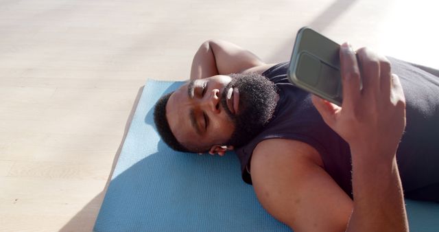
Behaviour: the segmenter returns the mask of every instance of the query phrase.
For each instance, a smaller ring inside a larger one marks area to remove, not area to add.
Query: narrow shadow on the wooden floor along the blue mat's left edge
[[[69,222],[67,222],[67,224],[65,224],[64,227],[60,229],[60,231],[92,231],[93,230],[93,226],[97,218],[97,213],[99,213],[99,209],[104,200],[104,196],[108,189],[108,185],[110,185],[112,173],[115,171],[115,167],[117,164],[117,160],[119,159],[119,156],[121,154],[123,143],[125,142],[126,135],[128,134],[128,130],[130,129],[132,117],[134,116],[134,112],[136,111],[137,104],[139,104],[139,100],[144,88],[145,86],[141,86],[139,91],[137,91],[136,100],[134,100],[134,104],[132,104],[130,115],[128,116],[128,119],[125,124],[123,137],[119,145],[119,148],[117,149],[117,152],[115,154],[115,158],[112,161],[111,172],[110,175],[108,176],[104,190],[101,193],[97,194],[97,196],[95,196],[90,202],[88,202],[87,205],[81,209],[81,211],[76,213],[76,215],[73,218],[71,218],[71,220],[69,220]]]

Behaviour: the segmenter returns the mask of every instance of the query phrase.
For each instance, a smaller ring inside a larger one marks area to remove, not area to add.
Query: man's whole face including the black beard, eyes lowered
[[[241,146],[259,132],[276,106],[274,84],[261,76],[213,76],[180,86],[166,105],[176,139],[194,152]]]

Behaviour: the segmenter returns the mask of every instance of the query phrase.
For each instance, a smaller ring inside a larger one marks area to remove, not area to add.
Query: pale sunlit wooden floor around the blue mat
[[[91,231],[139,89],[204,40],[280,62],[310,25],[439,68],[435,2],[0,0],[0,231]]]

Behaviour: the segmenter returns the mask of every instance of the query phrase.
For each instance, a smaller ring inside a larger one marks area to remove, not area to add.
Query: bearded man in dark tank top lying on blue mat
[[[439,201],[439,71],[356,54],[340,48],[338,107],[290,84],[288,62],[206,41],[191,80],[158,100],[158,132],[174,150],[235,150],[244,181],[294,231],[408,231],[403,197]]]

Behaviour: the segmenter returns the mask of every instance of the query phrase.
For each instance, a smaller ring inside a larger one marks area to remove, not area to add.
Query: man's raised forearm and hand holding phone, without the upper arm
[[[359,49],[356,56],[346,43],[340,48],[340,63],[342,107],[315,96],[313,104],[351,147],[354,202],[346,231],[408,231],[396,165],[405,128],[399,78],[386,58],[368,49]]]

